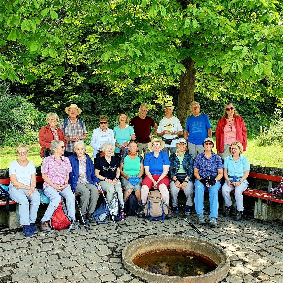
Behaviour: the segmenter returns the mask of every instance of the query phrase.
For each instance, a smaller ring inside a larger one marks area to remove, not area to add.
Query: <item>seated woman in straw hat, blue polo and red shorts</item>
[[[141,212],[138,214],[138,217],[145,217],[144,208],[147,201],[147,196],[149,190],[159,189],[159,192],[162,195],[162,199],[165,201],[168,207],[167,218],[171,218],[171,209],[169,206],[169,178],[167,176],[170,161],[168,154],[162,152],[165,142],[159,139],[153,139],[148,143],[148,149],[150,153],[145,155],[145,178],[142,182],[141,198],[142,198],[142,207]]]

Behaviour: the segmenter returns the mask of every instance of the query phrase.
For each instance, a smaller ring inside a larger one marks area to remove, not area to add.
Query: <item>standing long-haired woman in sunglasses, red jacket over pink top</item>
[[[223,117],[218,121],[216,131],[216,150],[222,161],[230,155],[229,146],[233,142],[240,142],[246,151],[247,131],[244,119],[239,116],[232,103],[226,103]]]

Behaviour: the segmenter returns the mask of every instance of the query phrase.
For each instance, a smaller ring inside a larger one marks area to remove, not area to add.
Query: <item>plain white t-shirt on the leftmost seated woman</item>
[[[30,186],[31,174],[36,174],[35,165],[29,161],[26,166],[21,166],[14,160],[9,164],[9,177],[13,174],[16,174],[18,182]],[[10,185],[12,185],[11,182]]]

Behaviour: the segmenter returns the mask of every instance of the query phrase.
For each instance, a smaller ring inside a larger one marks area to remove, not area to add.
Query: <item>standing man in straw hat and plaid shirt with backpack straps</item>
[[[60,129],[64,132],[67,146],[64,156],[69,157],[73,154],[73,145],[79,140],[86,140],[88,138],[85,123],[77,116],[82,113],[82,109],[76,104],[71,104],[65,108],[68,118],[65,118],[60,123]]]

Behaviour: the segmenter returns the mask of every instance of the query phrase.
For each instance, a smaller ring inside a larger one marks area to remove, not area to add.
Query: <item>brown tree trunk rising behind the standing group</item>
[[[186,73],[180,75],[180,88],[178,98],[178,118],[185,130],[186,119],[191,115],[190,103],[194,101],[194,88],[196,79],[196,69],[194,68],[195,60],[187,57],[181,62],[185,68]]]

